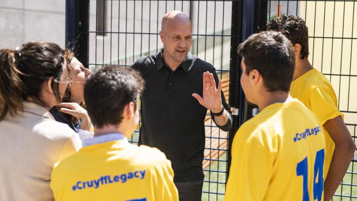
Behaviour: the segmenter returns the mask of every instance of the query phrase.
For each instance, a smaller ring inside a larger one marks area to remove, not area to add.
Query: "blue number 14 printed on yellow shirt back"
[[[322,191],[323,191],[323,161],[325,159],[325,149],[321,149],[316,152],[316,159],[314,165],[314,173],[313,173],[313,200],[321,201]],[[300,163],[297,163],[296,166],[296,174],[297,176],[302,176],[303,178],[303,196],[302,201],[310,201],[309,192],[307,189],[307,157],[304,158]],[[318,181],[316,183],[316,177]]]

